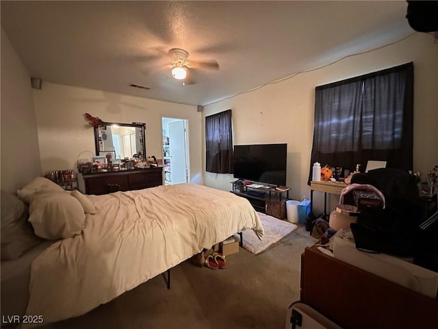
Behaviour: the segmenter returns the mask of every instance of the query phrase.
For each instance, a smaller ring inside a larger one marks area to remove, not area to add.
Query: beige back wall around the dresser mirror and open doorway
[[[165,116],[188,119],[191,182],[203,183],[201,113],[196,106],[47,82],[41,90],[34,90],[34,102],[44,173],[76,169],[78,157],[91,159],[94,132],[84,117],[86,112],[107,122],[146,123],[146,156],[157,158],[162,158],[161,117]]]

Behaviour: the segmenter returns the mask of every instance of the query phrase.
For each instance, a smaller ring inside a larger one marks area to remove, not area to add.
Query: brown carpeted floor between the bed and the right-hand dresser
[[[86,315],[45,328],[285,328],[289,304],[299,299],[300,255],[315,243],[304,226],[257,256],[240,247],[227,269],[189,261]]]

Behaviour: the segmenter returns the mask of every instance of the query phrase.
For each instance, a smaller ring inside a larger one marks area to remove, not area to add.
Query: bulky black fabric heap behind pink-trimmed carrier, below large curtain
[[[385,195],[385,209],[363,210],[350,228],[356,247],[411,256],[417,227],[429,215],[419,197],[416,178],[400,169],[374,169],[352,176],[352,184],[370,184]]]

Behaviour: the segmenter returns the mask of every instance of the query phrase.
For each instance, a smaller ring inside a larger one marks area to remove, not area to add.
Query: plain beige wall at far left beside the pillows
[[[30,75],[1,28],[1,188],[11,193],[41,175]]]

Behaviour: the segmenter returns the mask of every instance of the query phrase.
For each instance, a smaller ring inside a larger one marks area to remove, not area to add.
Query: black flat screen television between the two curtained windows
[[[287,144],[234,145],[234,178],[286,185]]]

